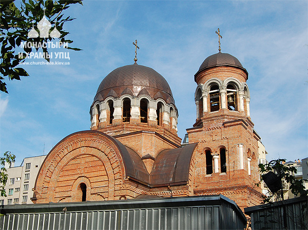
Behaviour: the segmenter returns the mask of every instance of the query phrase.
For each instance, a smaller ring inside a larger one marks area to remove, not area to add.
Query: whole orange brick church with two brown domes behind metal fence
[[[240,61],[219,51],[202,62],[195,74],[197,119],[181,147],[167,81],[134,60],[102,80],[90,107],[90,130],[65,137],[47,155],[32,201],[222,194],[242,209],[259,204],[260,137]]]

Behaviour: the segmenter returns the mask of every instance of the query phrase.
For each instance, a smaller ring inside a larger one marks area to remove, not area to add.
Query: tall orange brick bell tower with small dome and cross
[[[194,195],[223,194],[251,206],[262,194],[255,186],[260,137],[249,112],[248,72],[220,50],[195,74],[196,123],[187,129],[189,143],[198,143]]]

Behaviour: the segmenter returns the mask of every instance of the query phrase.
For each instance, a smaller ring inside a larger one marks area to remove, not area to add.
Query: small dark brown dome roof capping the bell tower
[[[240,68],[247,73],[247,70],[243,68],[241,62],[236,57],[228,53],[221,53],[219,51],[219,53],[210,55],[209,57],[205,58],[198,72],[195,74],[195,76],[207,68],[216,67],[216,66],[233,66],[233,67]]]

